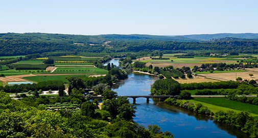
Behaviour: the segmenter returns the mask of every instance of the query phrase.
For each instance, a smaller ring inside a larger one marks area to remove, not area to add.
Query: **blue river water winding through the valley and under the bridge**
[[[118,60],[112,60],[117,65]],[[130,74],[128,79],[119,82],[112,90],[118,95],[149,95],[151,85],[156,77]],[[132,102],[132,99],[129,99]],[[157,106],[157,103],[159,106]],[[176,138],[184,137],[248,137],[239,130],[224,124],[214,123],[212,119],[195,114],[193,112],[168,105],[163,102],[150,99],[146,103],[145,98],[136,99],[136,113],[134,121],[147,127],[156,124],[162,131],[170,131]]]

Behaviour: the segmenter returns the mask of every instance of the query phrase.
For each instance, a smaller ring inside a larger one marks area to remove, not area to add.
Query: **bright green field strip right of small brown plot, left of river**
[[[53,74],[107,74],[108,71],[97,67],[58,67]]]

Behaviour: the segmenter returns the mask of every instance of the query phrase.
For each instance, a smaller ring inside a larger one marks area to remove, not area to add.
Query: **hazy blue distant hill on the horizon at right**
[[[240,34],[232,34],[232,33],[220,33],[220,34],[194,34],[194,35],[182,35],[183,37],[207,41],[210,39],[219,39],[219,38],[242,38],[242,39],[258,39],[258,34],[255,33],[240,33]]]

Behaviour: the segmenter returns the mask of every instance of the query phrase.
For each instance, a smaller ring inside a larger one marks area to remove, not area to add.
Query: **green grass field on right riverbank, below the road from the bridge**
[[[195,98],[193,101],[199,101],[207,104],[216,105],[218,107],[213,107],[211,110],[224,110],[225,108],[230,108],[234,110],[247,111],[258,116],[258,106],[248,103],[242,103],[237,101],[231,101],[225,98]]]

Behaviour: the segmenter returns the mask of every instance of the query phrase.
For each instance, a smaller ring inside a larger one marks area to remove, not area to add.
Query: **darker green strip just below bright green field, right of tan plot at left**
[[[27,79],[33,82],[53,81],[53,80],[68,82],[68,80],[66,79],[68,77],[83,77],[83,76],[88,77],[89,75],[33,76],[33,77],[24,77],[24,79]]]

